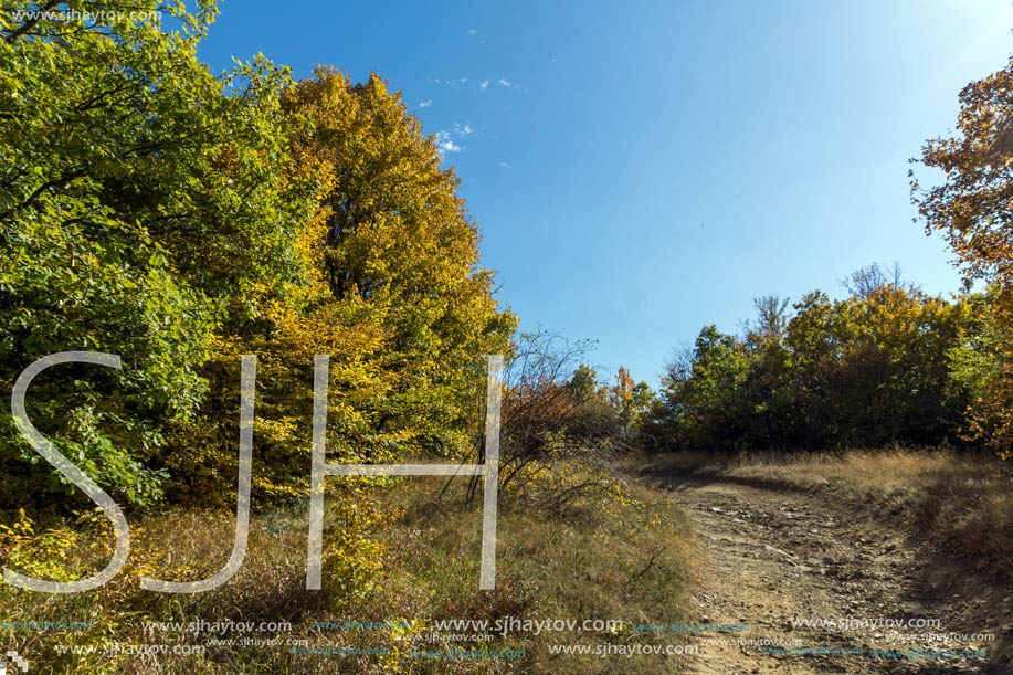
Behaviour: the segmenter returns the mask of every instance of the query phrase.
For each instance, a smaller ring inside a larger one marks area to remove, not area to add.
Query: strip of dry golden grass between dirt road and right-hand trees
[[[899,526],[917,528],[1002,581],[1013,579],[1013,483],[991,455],[900,447],[674,453],[640,457],[630,465],[651,473],[834,493]]]

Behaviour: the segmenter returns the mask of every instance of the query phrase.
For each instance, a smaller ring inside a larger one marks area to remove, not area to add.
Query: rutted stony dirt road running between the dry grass
[[[777,646],[704,644],[689,673],[1013,673],[1002,656],[1013,636],[1013,591],[983,590],[946,551],[925,537],[874,521],[863,509],[821,494],[729,483],[665,478],[689,514],[704,558],[694,593],[699,623],[748,623],[750,631],[717,637],[796,640],[811,650],[861,653],[771,653]],[[866,511],[867,513],[867,511]],[[855,625],[842,626],[852,618]],[[798,620],[836,625],[800,625]],[[874,627],[873,620],[939,620],[938,626]],[[796,620],[794,625],[792,620]],[[862,623],[866,621],[866,623]],[[925,642],[926,633],[986,633],[995,641]],[[898,633],[919,639],[898,640]],[[984,650],[986,656],[872,655],[870,650]]]

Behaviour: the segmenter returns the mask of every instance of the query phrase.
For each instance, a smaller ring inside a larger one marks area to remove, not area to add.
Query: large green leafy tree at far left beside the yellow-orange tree
[[[257,59],[215,77],[198,61],[214,14],[205,0],[0,3],[0,384],[56,351],[120,355],[122,371],[46,371],[29,403],[135,503],[159,495],[166,425],[202,400],[214,335],[256,316],[258,287],[293,281],[313,205],[284,73]],[[17,434],[0,435],[0,464],[13,502],[67,487]]]

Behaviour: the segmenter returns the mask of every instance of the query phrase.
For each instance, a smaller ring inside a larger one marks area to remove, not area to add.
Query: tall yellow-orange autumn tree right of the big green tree
[[[352,84],[319,68],[282,105],[294,179],[317,188],[293,241],[296,281],[244,298],[254,314],[219,336],[205,368],[215,393],[181,428],[180,445],[193,450],[170,458],[170,473],[191,488],[234,488],[241,354],[258,356],[261,494],[308,489],[316,354],[330,356],[329,462],[464,456],[479,429],[484,356],[506,351],[516,318],[478,264],[460,180],[377,75]]]

